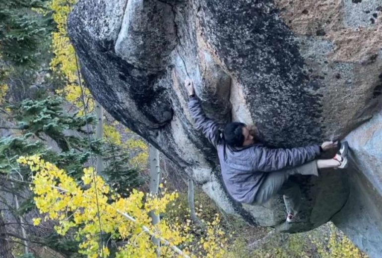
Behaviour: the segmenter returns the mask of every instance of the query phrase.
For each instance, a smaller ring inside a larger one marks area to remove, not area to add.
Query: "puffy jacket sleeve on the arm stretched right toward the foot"
[[[320,154],[320,148],[318,145],[291,149],[255,146],[254,152],[254,171],[271,172],[312,161]]]

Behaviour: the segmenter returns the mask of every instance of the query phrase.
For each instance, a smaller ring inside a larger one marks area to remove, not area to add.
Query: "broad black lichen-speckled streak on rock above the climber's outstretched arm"
[[[247,102],[253,103],[250,111],[264,140],[278,146],[318,141],[319,125],[311,118],[317,117],[319,98],[303,89],[310,86],[316,90],[320,84],[304,75],[304,60],[292,32],[278,19],[277,10],[265,6],[266,1],[202,2],[204,14],[199,19],[203,30],[208,31],[203,35],[228,71],[240,71],[238,80],[245,87]],[[234,11],[237,9],[246,12]],[[269,119],[275,117],[280,119]],[[289,141],[292,138],[298,140]]]

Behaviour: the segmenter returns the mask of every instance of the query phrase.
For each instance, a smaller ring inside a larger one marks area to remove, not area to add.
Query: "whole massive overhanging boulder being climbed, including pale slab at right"
[[[94,97],[226,212],[284,232],[332,219],[376,255],[381,122],[370,119],[381,110],[381,11],[382,0],[79,0],[68,31]],[[215,149],[193,129],[187,77],[210,118],[255,124],[273,146],[340,139],[370,120],[349,135],[349,173],[291,179],[302,186],[301,223],[284,223],[281,196],[261,206],[236,203]]]

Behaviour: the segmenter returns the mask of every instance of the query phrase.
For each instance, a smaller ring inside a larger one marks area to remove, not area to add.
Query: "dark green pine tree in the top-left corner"
[[[33,97],[48,73],[54,21],[47,3],[0,1],[0,97],[8,102]]]

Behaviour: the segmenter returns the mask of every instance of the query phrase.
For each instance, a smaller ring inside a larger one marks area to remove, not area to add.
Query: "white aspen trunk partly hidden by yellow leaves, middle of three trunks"
[[[160,182],[160,168],[159,168],[159,151],[150,144],[149,148],[149,161],[150,161],[150,194],[155,198],[158,194],[159,182]],[[159,223],[159,214],[155,214],[155,211],[150,212],[152,224]],[[152,238],[154,245],[158,246],[156,253],[157,257],[160,257],[160,241],[157,238]]]

